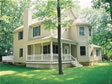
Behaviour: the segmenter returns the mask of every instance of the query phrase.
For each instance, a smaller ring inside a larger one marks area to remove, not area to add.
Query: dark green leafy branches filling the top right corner
[[[93,0],[94,8],[104,8],[107,12],[110,13],[111,24],[112,24],[112,0]]]

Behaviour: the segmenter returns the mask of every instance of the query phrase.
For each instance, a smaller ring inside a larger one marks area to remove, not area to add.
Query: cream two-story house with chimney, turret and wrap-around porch
[[[101,47],[90,45],[92,29],[88,22],[76,19],[68,29],[62,28],[61,53],[63,67],[71,67],[80,62],[91,65],[101,61]],[[78,62],[77,62],[78,61]],[[57,30],[46,30],[38,19],[32,19],[32,11],[24,12],[24,25],[14,30],[14,64],[25,64],[34,68],[57,68]]]

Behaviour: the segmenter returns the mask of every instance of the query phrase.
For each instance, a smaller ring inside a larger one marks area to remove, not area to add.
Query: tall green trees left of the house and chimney
[[[13,30],[22,25],[23,12],[31,6],[30,0],[2,0],[0,17],[0,56],[9,55],[13,48]],[[5,52],[7,51],[7,52]]]

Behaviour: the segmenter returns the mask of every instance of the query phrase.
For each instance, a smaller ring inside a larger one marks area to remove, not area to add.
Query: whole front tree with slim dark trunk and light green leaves
[[[78,7],[76,5],[75,7]],[[72,10],[74,7],[72,0],[48,0],[41,1],[38,0],[35,6],[34,17],[38,17],[40,20],[43,20],[45,29],[57,29],[58,28],[58,60],[59,60],[59,74],[63,74],[62,63],[61,63],[61,27],[68,28],[73,22],[72,19],[66,19],[68,14],[66,11]],[[57,7],[56,7],[57,6]],[[63,12],[61,12],[61,10]],[[58,16],[58,17],[57,17]],[[58,26],[57,26],[58,25]]]

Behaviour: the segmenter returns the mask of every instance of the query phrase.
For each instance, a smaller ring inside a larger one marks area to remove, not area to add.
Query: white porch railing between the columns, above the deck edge
[[[71,60],[70,54],[63,54],[62,61]],[[27,55],[26,61],[58,61],[58,54],[33,54]]]

